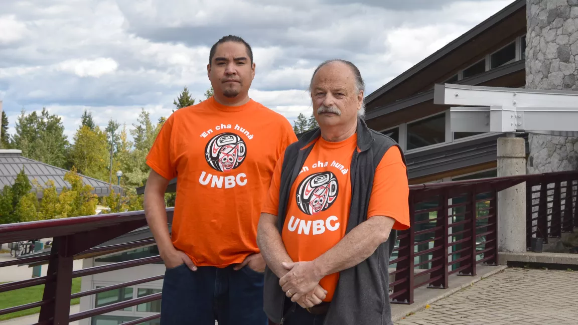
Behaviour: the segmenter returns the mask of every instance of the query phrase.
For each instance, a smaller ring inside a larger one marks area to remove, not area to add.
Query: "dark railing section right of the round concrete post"
[[[578,228],[578,172],[538,175],[526,182],[526,239],[560,238]]]

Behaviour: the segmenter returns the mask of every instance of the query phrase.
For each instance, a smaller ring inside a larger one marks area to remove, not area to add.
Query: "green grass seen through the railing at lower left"
[[[72,293],[80,292],[80,278],[72,279]],[[0,293],[0,309],[10,308],[30,304],[42,300],[42,293],[44,292],[44,285],[28,287],[8,292]],[[80,298],[73,299],[71,305],[80,304]],[[8,315],[0,316],[0,320],[7,320],[21,316],[33,315],[40,312],[40,307],[27,309],[25,311],[9,313]]]

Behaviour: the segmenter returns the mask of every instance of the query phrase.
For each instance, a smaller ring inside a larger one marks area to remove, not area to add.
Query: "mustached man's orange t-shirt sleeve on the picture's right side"
[[[387,150],[376,168],[367,216],[395,219],[393,228],[409,228],[409,184],[406,166],[397,146]]]

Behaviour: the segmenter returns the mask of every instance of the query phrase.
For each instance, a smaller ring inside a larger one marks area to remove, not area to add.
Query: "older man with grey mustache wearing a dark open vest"
[[[409,186],[397,143],[362,119],[364,91],[354,64],[323,62],[310,84],[319,128],[277,162],[257,232],[272,322],[392,324],[391,230],[409,228]]]

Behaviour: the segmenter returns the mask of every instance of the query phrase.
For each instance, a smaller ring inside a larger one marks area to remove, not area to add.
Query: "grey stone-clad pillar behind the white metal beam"
[[[526,88],[578,90],[578,0],[527,0]],[[528,173],[578,169],[578,139],[529,134]]]

